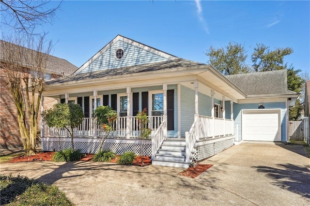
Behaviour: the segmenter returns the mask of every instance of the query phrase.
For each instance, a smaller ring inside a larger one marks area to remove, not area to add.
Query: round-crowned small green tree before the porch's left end
[[[73,130],[77,128],[84,118],[82,107],[74,103],[57,103],[42,113],[48,127],[65,128],[71,136],[71,145],[74,150]]]

